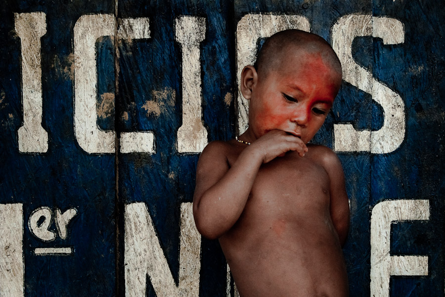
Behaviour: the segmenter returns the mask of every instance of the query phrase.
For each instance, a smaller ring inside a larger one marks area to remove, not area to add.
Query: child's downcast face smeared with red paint
[[[258,73],[249,103],[249,129],[256,139],[278,129],[308,143],[326,119],[340,84],[341,74],[319,53],[290,52],[279,67]]]

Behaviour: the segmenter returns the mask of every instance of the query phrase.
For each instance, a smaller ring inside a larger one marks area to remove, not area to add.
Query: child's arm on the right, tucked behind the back
[[[326,148],[324,167],[330,180],[330,213],[342,247],[349,230],[349,199],[346,194],[345,176],[339,158],[331,149]]]

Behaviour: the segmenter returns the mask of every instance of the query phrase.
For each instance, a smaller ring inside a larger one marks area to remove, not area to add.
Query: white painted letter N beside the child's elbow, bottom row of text
[[[145,203],[125,206],[125,296],[146,294],[146,276],[158,297],[198,297],[201,236],[192,204],[181,204],[179,285],[176,286]]]

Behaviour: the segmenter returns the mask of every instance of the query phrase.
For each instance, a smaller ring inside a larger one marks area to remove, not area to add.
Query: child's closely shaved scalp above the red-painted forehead
[[[296,29],[280,31],[267,38],[257,54],[254,67],[259,74],[267,75],[270,70],[280,68],[286,54],[298,54],[299,51],[320,54],[323,61],[341,77],[340,60],[329,43],[318,35]]]

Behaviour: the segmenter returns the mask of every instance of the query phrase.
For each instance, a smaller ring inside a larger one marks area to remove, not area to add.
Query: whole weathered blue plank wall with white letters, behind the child
[[[199,152],[246,128],[238,77],[299,28],[343,84],[350,296],[444,296],[445,12],[405,0],[0,5],[0,296],[237,296],[191,214]]]

